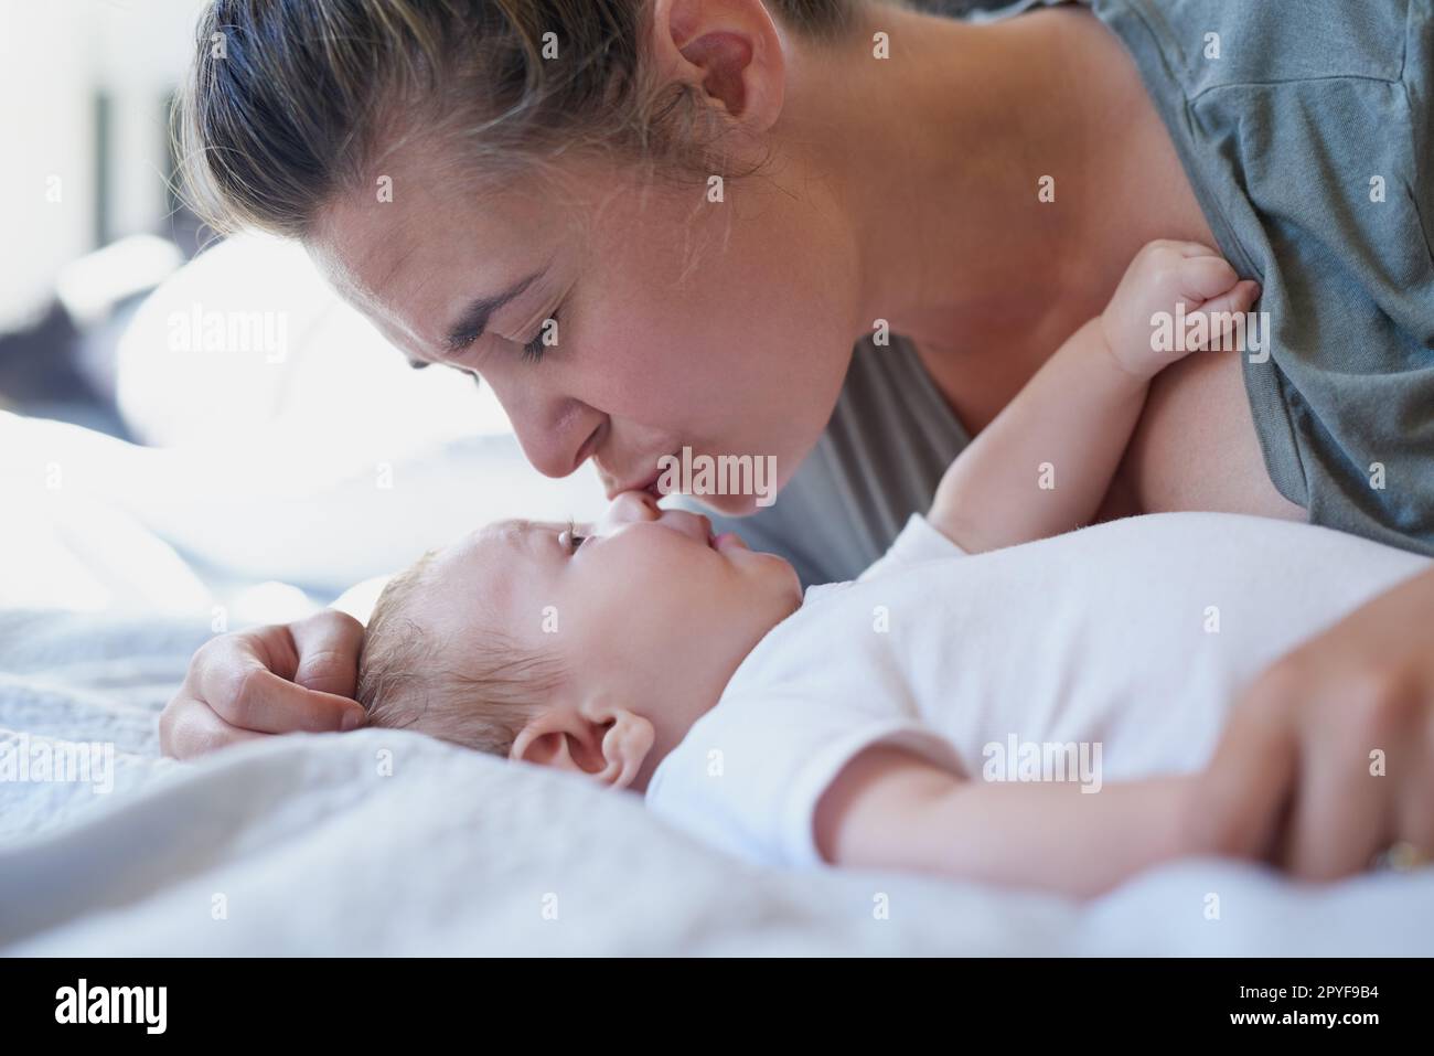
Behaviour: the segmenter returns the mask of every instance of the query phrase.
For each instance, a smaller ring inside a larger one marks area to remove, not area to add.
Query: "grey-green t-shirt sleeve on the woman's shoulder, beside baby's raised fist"
[[[1091,7],[1260,281],[1242,362],[1271,481],[1314,524],[1434,555],[1428,4]]]

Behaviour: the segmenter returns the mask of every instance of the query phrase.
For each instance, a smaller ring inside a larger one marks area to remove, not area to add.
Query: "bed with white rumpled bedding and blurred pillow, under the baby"
[[[315,277],[275,264],[288,251],[254,251],[235,240],[206,254],[130,334],[126,416],[162,446],[0,413],[0,951],[1434,950],[1434,869],[1305,887],[1186,861],[1078,904],[916,875],[757,868],[691,842],[635,796],[414,733],[161,758],[158,713],[218,630],[294,618],[492,517],[584,517],[601,502],[589,475],[541,482],[511,433],[475,429],[470,386],[452,389],[460,379],[414,376],[371,334],[336,334],[353,320]],[[231,290],[270,303],[245,275],[295,297],[293,353],[261,374],[174,362],[174,306],[221,304]],[[343,363],[315,360],[326,354]],[[201,373],[184,376],[185,399],[161,399],[191,367]],[[248,403],[234,399],[241,386]],[[298,449],[310,455],[295,461]],[[391,491],[376,489],[376,463]],[[96,762],[87,781],[39,776],[85,758]],[[23,781],[22,760],[36,763]]]

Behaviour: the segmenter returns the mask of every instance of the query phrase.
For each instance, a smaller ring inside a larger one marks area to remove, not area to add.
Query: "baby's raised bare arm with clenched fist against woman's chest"
[[[1157,350],[1152,317],[1173,317],[1184,303],[1187,320],[1199,313],[1219,320],[1217,313],[1246,311],[1258,296],[1255,283],[1240,281],[1203,245],[1144,247],[1106,311],[1077,330],[952,462],[931,524],[967,552],[1088,524],[1140,419],[1150,379],[1189,352],[1183,341]]]

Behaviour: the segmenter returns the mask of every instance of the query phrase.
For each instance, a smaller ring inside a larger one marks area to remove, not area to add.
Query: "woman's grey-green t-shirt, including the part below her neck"
[[[1315,524],[1434,555],[1434,0],[1083,3],[1134,57],[1220,251],[1263,287],[1269,357],[1245,357],[1245,387],[1271,481]],[[913,346],[863,339],[812,456],[724,527],[804,583],[853,578],[965,442]]]

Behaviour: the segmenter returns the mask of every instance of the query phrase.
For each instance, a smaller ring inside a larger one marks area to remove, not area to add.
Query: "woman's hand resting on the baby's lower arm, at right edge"
[[[1434,854],[1434,571],[1355,610],[1255,683],[1196,818],[1216,852],[1335,880]]]

